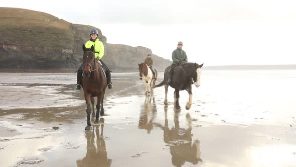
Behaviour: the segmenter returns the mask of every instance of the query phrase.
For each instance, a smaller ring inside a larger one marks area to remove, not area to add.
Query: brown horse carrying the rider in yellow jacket
[[[87,107],[87,126],[85,127],[85,130],[90,130],[92,129],[90,122],[91,111],[92,116],[96,117],[95,123],[100,122],[99,114],[101,114],[101,116],[104,115],[103,100],[107,87],[107,80],[101,65],[97,62],[94,56],[94,47],[91,46],[91,48],[85,48],[85,46],[82,45],[82,49],[84,51],[82,87]],[[94,113],[94,97],[97,97],[96,114]]]

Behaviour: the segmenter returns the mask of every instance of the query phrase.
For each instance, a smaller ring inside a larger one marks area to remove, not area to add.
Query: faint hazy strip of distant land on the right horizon
[[[224,66],[204,66],[209,70],[268,70],[268,69],[296,69],[296,64],[290,65],[224,65]]]

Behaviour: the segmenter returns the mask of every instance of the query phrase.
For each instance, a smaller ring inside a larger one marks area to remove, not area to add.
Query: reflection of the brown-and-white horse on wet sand
[[[151,100],[153,104],[151,104]],[[139,117],[139,129],[146,129],[147,133],[150,134],[153,129],[153,120],[156,118],[157,109],[155,99],[150,95],[145,96],[144,104],[141,106],[141,113]]]

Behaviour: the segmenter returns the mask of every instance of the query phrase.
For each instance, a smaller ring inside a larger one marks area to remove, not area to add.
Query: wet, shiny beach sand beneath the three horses
[[[165,106],[164,87],[145,96],[138,73],[112,78],[105,116],[85,131],[75,74],[0,73],[0,166],[296,164],[293,70],[205,70],[190,110],[187,92],[175,110],[173,89]]]

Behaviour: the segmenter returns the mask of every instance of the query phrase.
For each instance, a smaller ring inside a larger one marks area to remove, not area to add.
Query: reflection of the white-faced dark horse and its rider
[[[165,108],[165,126],[157,123],[155,123],[155,125],[164,130],[164,141],[165,143],[170,144],[172,164],[174,166],[182,166],[185,162],[192,162],[193,164],[202,162],[202,159],[200,158],[200,141],[194,140],[192,142],[192,122],[190,115],[186,115],[188,128],[180,128],[179,113],[175,111],[175,127],[170,129],[167,119],[167,110],[168,109]]]

